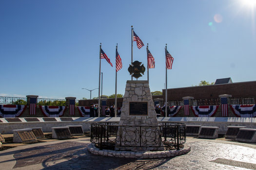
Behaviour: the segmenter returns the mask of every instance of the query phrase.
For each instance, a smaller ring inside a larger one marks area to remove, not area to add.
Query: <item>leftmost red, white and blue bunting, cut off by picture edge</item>
[[[19,117],[27,108],[27,105],[3,105],[0,104],[0,117],[15,118]]]

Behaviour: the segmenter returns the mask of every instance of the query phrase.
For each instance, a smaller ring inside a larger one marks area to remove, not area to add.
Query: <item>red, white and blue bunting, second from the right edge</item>
[[[191,106],[196,117],[213,117],[218,110],[218,105],[213,106]]]

